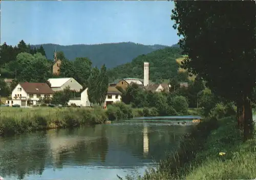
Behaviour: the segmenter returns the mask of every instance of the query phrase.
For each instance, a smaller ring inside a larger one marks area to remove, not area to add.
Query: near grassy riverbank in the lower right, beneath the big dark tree
[[[198,124],[156,169],[127,179],[254,179],[256,139],[243,143],[236,124],[235,117]]]

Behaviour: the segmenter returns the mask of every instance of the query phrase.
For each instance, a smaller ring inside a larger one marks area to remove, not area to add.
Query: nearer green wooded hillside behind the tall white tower
[[[143,78],[143,62],[150,63],[150,80],[161,82],[164,79],[177,78],[179,81],[187,81],[187,72],[178,72],[179,64],[176,59],[181,57],[180,48],[164,48],[152,53],[140,55],[132,62],[118,65],[109,70],[110,80],[133,77]]]

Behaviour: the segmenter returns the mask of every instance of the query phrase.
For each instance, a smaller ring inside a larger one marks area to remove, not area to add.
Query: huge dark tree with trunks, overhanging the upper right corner
[[[184,68],[205,79],[216,95],[237,103],[245,140],[252,136],[255,13],[255,2],[176,1],[172,15],[174,28],[183,36]]]

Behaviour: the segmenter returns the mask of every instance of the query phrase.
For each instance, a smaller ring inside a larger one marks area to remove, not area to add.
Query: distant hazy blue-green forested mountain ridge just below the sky
[[[100,67],[105,64],[107,68],[131,62],[141,54],[151,53],[158,49],[166,48],[160,44],[147,46],[134,42],[103,43],[103,44],[75,44],[61,46],[59,44],[31,45],[32,48],[44,47],[46,57],[51,59],[53,52],[62,51],[66,58],[73,61],[76,57],[87,57],[91,59],[92,65]]]

